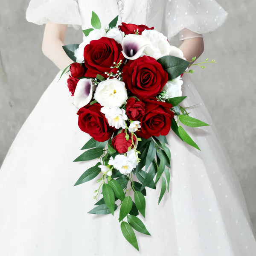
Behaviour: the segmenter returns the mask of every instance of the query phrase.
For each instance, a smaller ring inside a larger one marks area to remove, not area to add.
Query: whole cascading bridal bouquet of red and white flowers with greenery
[[[161,180],[158,203],[169,191],[171,153],[165,136],[172,129],[200,150],[180,123],[207,124],[180,106],[186,98],[182,75],[193,72],[186,71],[190,63],[183,52],[153,27],[117,27],[117,20],[102,28],[93,12],[93,29],[83,31],[84,41],[63,47],[75,62],[62,75],[69,68],[67,84],[79,109],[78,125],[92,137],[75,161],[99,158],[75,185],[99,176],[95,199],[101,192],[103,197],[89,213],[114,215],[120,207],[122,234],[139,250],[134,230],[150,235],[137,217],[140,212],[145,218],[146,187],[156,189]]]

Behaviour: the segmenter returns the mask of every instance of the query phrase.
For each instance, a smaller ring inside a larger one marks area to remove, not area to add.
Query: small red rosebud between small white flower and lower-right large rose
[[[136,100],[134,97],[128,99],[125,105],[125,111],[130,120],[139,120],[145,113],[145,104]]]

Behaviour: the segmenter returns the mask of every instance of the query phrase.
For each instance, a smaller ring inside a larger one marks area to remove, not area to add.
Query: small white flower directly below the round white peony
[[[116,129],[123,128],[125,129],[125,121],[128,120],[126,116],[125,110],[121,108],[109,108],[109,107],[102,107],[100,110],[108,120],[108,124],[110,126],[115,127]]]

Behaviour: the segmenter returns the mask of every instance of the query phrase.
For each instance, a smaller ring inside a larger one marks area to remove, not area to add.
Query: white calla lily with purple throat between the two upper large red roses
[[[128,34],[122,41],[122,54],[129,60],[139,58],[146,47],[152,48],[151,41],[143,35]]]

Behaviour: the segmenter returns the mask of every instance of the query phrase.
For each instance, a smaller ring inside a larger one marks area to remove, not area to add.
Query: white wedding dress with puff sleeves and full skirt
[[[205,33],[220,26],[226,12],[215,0],[32,0],[27,19],[90,27],[91,11],[102,24],[121,21],[155,26],[169,40],[181,29]],[[74,42],[79,43],[79,42]],[[158,206],[159,187],[147,189],[145,225],[137,234],[140,252],[122,236],[118,211],[90,215],[98,188],[74,187],[96,160],[74,163],[89,135],[77,125],[66,79],[49,85],[12,144],[0,170],[0,255],[3,256],[254,256],[256,240],[238,179],[211,127],[190,129],[201,148],[171,131],[170,193]],[[183,76],[185,105],[212,123],[195,86]],[[140,218],[143,218],[140,216]]]

